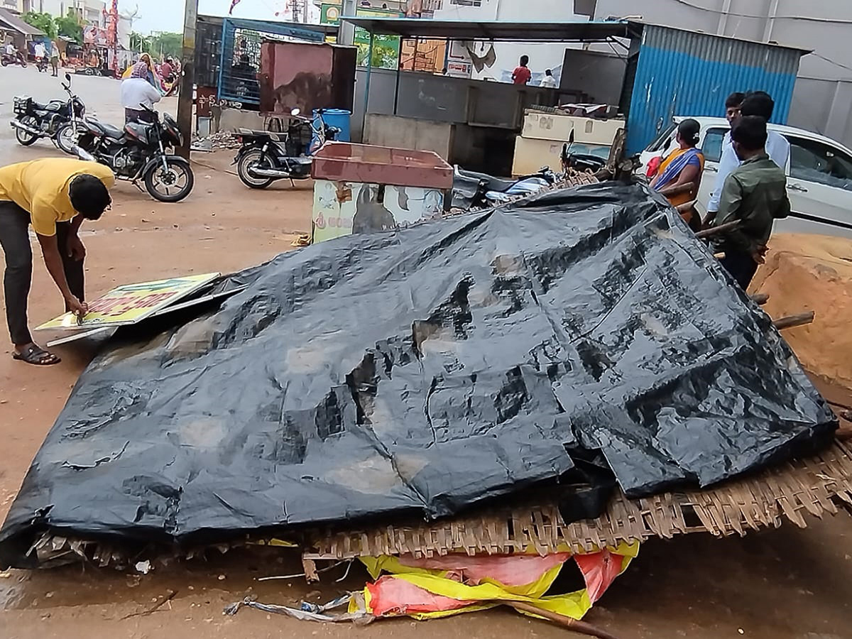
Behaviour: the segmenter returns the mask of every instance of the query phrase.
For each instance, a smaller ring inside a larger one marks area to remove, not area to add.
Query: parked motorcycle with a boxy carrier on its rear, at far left
[[[41,138],[49,137],[65,153],[73,155],[77,136],[82,130],[86,106],[71,91],[71,76],[65,74],[62,89],[66,101],[51,100],[47,104],[34,101],[27,95],[16,95],[13,101],[14,119],[9,123],[21,146],[29,147]]]

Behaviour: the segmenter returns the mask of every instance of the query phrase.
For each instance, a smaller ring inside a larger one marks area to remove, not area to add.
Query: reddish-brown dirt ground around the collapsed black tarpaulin
[[[308,231],[310,185],[252,192],[227,173],[230,153],[198,159],[197,186],[184,203],[155,204],[120,184],[113,209],[84,227],[89,297],[120,283],[254,265],[290,250],[295,234]],[[61,310],[38,260],[30,303],[33,325]],[[57,351],[63,357],[59,366],[37,369],[13,362],[9,348],[0,349],[0,518],[92,349],[72,344]],[[0,637],[566,636],[565,630],[504,610],[367,628],[314,625],[250,609],[222,615],[222,607],[247,594],[262,602],[293,603],[308,595],[325,601],[366,581],[357,567],[341,583],[335,579],[343,567],[335,568],[319,587],[302,579],[256,581],[300,571],[285,550],[214,554],[206,561],[157,566],[145,576],[79,566],[12,570],[0,573]],[[805,530],[787,523],[743,539],[690,535],[649,542],[587,620],[625,639],[840,639],[852,636],[850,606],[852,519],[839,515],[812,521]]]

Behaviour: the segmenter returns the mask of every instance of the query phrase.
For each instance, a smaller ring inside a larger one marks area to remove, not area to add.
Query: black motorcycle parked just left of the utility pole
[[[145,182],[145,189],[160,202],[179,202],[193,190],[195,176],[186,159],[174,154],[183,135],[168,113],[159,117],[151,108],[153,123],[130,122],[124,129],[86,119],[78,141],[78,157],[106,164],[119,180]]]

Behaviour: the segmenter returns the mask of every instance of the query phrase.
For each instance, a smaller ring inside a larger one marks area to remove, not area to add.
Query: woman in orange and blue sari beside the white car
[[[651,188],[665,195],[674,207],[688,204],[698,196],[704,173],[704,154],[696,148],[700,131],[701,125],[695,120],[683,120],[678,125],[679,148],[659,164],[657,175],[651,181]],[[701,220],[694,207],[681,211],[681,215],[690,227],[700,228]]]

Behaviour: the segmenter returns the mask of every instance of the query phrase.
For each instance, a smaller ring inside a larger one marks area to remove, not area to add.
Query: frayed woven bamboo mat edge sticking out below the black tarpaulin
[[[840,442],[811,458],[705,490],[665,492],[628,499],[620,492],[594,520],[564,525],[556,504],[489,509],[478,515],[349,532],[315,532],[305,539],[307,558],[435,556],[448,553],[507,554],[533,548],[538,554],[566,545],[589,552],[619,542],[709,532],[717,537],[779,527],[785,520],[807,526],[807,515],[835,515],[852,506],[852,450]]]

